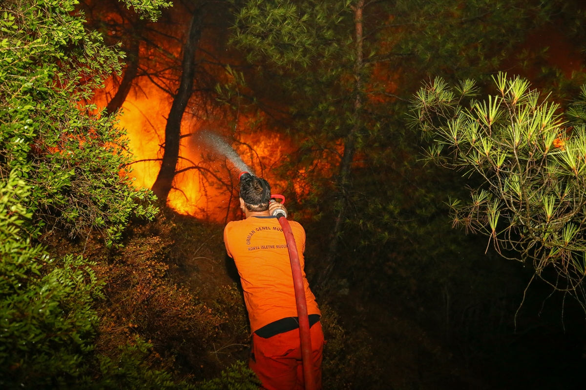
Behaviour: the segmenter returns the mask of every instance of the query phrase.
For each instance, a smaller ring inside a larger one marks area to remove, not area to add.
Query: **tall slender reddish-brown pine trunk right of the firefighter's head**
[[[355,88],[356,96],[354,101],[354,113],[353,113],[353,126],[350,132],[347,134],[344,140],[344,153],[342,154],[342,160],[340,161],[340,171],[338,175],[338,196],[339,199],[339,210],[335,217],[335,224],[333,227],[332,234],[330,236],[330,243],[328,247],[328,253],[326,254],[324,267],[316,278],[315,288],[318,290],[323,289],[330,275],[332,274],[333,267],[336,263],[336,255],[338,254],[338,236],[342,232],[342,225],[345,219],[345,209],[347,207],[347,196],[348,196],[348,181],[350,177],[350,171],[352,169],[352,159],[356,151],[356,133],[360,131],[362,126],[362,120],[360,119],[362,109],[362,68],[363,64],[363,33],[362,33],[362,11],[364,9],[364,0],[359,0],[354,11],[354,25],[356,30],[356,61],[354,63],[354,77],[355,77]]]

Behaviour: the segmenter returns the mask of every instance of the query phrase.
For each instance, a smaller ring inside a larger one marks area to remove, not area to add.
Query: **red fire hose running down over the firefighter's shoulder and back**
[[[285,201],[282,195],[272,195],[273,198],[280,198]],[[293,286],[295,288],[295,303],[297,303],[297,316],[299,318],[299,336],[301,337],[301,360],[303,361],[303,374],[305,379],[305,390],[316,390],[314,361],[312,359],[311,335],[309,334],[309,317],[307,316],[307,301],[305,300],[305,287],[303,285],[303,274],[301,272],[301,263],[299,263],[299,253],[297,244],[291,230],[291,225],[284,213],[277,213],[277,218],[289,250],[289,260],[291,260],[291,271],[293,272]]]

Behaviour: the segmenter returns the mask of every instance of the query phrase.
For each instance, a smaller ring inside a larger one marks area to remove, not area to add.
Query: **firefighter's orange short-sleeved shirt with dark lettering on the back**
[[[295,237],[308,314],[321,314],[305,277],[305,230],[289,221]],[[295,290],[287,241],[277,217],[250,217],[229,222],[224,244],[238,268],[251,331],[285,317],[297,317]]]

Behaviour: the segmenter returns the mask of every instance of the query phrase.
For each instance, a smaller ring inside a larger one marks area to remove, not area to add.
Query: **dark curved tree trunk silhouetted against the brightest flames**
[[[199,6],[193,12],[193,17],[189,24],[189,31],[185,45],[183,45],[182,73],[179,89],[165,126],[165,145],[163,146],[163,161],[161,170],[156,177],[152,191],[155,193],[159,202],[165,203],[169,191],[171,191],[173,178],[175,178],[175,167],[179,160],[179,143],[181,139],[181,120],[183,112],[191,98],[193,89],[193,76],[195,74],[196,61],[195,52],[197,43],[202,36],[203,27],[203,9]]]

